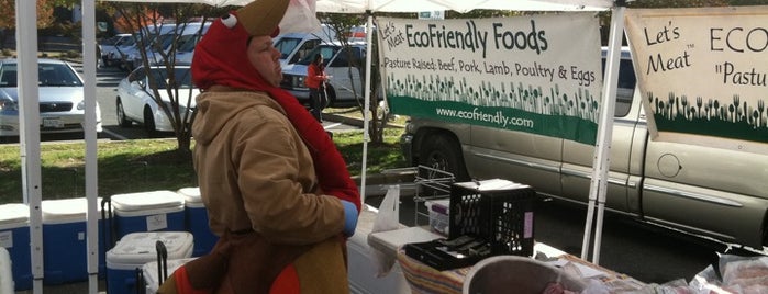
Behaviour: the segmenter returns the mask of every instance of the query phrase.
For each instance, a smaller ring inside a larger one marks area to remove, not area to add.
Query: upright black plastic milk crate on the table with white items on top
[[[491,256],[533,256],[535,200],[531,186],[505,180],[454,183],[448,239],[485,239]]]

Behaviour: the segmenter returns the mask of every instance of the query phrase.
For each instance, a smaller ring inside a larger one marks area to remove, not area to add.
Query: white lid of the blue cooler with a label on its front
[[[144,211],[183,206],[183,197],[174,191],[159,190],[112,195],[115,211]]]

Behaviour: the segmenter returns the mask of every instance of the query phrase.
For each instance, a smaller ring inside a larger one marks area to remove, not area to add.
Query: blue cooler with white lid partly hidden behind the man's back
[[[182,188],[177,193],[183,196],[187,231],[194,235],[194,251],[192,256],[199,257],[210,252],[219,237],[213,235],[208,226],[208,211],[200,197],[200,188]]]

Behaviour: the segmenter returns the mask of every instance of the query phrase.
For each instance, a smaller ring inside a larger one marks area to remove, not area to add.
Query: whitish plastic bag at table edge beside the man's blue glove
[[[379,213],[374,219],[374,228],[370,233],[394,230],[400,228],[400,185],[390,185],[387,189],[387,194],[379,205]],[[383,252],[371,248],[370,253],[374,257],[374,262],[378,272],[377,278],[387,275],[394,265],[394,255],[385,255]]]

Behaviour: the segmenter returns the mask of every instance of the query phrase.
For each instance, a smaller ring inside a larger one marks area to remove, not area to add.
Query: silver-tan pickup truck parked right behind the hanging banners
[[[606,210],[723,242],[768,246],[768,156],[652,139],[626,48],[614,99]],[[411,117],[401,147],[409,163],[457,180],[502,178],[589,202],[592,145]]]

